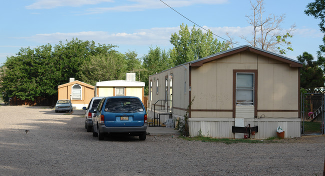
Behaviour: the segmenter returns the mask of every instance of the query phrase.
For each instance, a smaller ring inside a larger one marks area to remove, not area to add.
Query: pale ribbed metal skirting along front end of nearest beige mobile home
[[[245,118],[244,125],[258,126],[258,132],[252,135],[254,139],[266,139],[276,136],[276,128],[281,126],[285,131],[284,137],[300,137],[301,125],[300,118]],[[201,134],[215,138],[234,138],[232,132],[234,118],[190,118],[190,136]]]

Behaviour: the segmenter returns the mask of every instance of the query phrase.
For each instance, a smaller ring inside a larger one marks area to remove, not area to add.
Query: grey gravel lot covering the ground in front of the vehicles
[[[325,136],[282,143],[107,137],[84,117],[47,107],[0,106],[0,175],[322,175]],[[26,129],[30,131],[25,132]]]

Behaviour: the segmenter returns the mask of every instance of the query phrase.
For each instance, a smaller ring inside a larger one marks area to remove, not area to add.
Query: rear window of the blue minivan
[[[140,112],[142,103],[137,98],[109,98],[105,105],[106,112]]]

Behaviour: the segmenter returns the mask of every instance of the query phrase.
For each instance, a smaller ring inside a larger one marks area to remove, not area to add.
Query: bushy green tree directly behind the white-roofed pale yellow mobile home
[[[110,52],[92,55],[80,67],[81,79],[95,85],[98,81],[124,79],[127,60],[122,53]]]

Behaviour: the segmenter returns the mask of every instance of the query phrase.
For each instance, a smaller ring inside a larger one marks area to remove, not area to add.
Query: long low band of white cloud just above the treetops
[[[230,36],[238,40],[240,35],[250,35],[251,27],[208,27],[214,34],[229,39],[226,32]],[[191,29],[192,26],[189,26]],[[170,37],[172,33],[178,33],[179,26],[177,27],[154,27],[149,29],[138,29],[134,32],[117,32],[111,33],[108,31],[81,31],[81,32],[56,32],[56,33],[40,33],[33,36],[19,37],[18,39],[26,39],[28,41],[35,41],[41,44],[44,43],[58,43],[59,41],[71,40],[73,37],[81,40],[94,40],[96,43],[102,44],[126,44],[126,45],[170,45]],[[204,29],[201,29],[206,32]],[[216,37],[216,36],[215,36]],[[223,41],[222,38],[217,37],[218,40]]]

